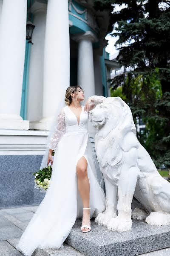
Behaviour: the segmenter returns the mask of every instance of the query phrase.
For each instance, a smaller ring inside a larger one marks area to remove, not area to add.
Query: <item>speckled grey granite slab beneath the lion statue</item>
[[[92,218],[91,231],[82,233],[81,223],[76,220],[65,243],[86,256],[136,256],[170,247],[170,225],[157,227],[133,220],[130,231],[118,233],[97,225]]]

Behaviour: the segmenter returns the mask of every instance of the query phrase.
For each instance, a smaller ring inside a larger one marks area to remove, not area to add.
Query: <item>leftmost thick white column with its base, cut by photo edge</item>
[[[28,129],[20,116],[27,0],[3,0],[0,29],[0,128]]]

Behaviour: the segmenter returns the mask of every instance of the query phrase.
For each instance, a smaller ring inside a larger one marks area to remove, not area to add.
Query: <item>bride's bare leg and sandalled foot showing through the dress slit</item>
[[[77,178],[78,189],[82,198],[83,208],[89,208],[89,196],[90,196],[90,184],[88,180],[88,163],[85,157],[81,157],[77,162]],[[82,225],[90,226],[90,210],[83,209]],[[82,231],[89,230],[87,227],[83,227]]]

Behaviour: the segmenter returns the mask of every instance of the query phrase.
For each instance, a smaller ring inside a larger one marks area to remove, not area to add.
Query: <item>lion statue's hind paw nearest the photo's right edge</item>
[[[150,212],[150,215],[147,216],[146,220],[147,224],[153,226],[162,226],[170,224],[170,214],[163,212]]]

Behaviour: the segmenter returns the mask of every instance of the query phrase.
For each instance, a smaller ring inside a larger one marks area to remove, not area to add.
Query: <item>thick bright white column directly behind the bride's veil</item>
[[[48,0],[44,49],[42,119],[35,129],[48,130],[70,85],[68,0]]]

